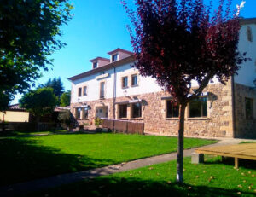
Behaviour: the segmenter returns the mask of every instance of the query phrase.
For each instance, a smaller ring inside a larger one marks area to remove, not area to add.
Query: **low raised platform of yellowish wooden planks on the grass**
[[[212,154],[235,159],[235,167],[239,167],[239,159],[256,160],[256,143],[214,146],[195,149],[197,154]]]

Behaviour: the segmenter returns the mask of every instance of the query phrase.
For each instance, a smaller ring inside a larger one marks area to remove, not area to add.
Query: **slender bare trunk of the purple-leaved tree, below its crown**
[[[184,146],[184,118],[187,104],[179,106],[179,124],[177,141],[177,183],[183,183],[183,146]]]

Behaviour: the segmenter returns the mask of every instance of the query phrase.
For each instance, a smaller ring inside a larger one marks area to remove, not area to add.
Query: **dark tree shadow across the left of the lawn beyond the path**
[[[111,159],[61,153],[60,149],[40,146],[36,140],[24,137],[0,139],[0,158],[0,186],[113,163]]]

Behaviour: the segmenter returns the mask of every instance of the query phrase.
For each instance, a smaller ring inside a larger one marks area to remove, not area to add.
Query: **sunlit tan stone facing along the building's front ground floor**
[[[233,137],[233,114],[231,83],[210,84],[204,90],[207,96],[207,118],[189,118],[188,107],[185,115],[185,136],[208,136],[208,137]],[[140,99],[143,103],[143,118],[131,119],[131,104],[128,104],[127,117],[134,122],[144,122],[145,132],[177,136],[178,119],[166,118],[166,100],[162,98],[170,96],[161,91],[137,96],[118,97],[116,102]],[[88,119],[79,119],[79,124],[92,123],[96,115],[96,107],[108,106],[108,119],[113,119],[113,99],[88,101],[90,106]],[[74,107],[81,104],[72,104],[72,113],[75,115]],[[117,116],[117,105],[115,117]]]

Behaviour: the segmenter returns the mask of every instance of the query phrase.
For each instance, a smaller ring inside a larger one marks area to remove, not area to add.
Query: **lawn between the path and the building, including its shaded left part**
[[[192,148],[216,141],[185,139]],[[0,139],[0,185],[83,171],[177,151],[177,138],[67,134]]]

